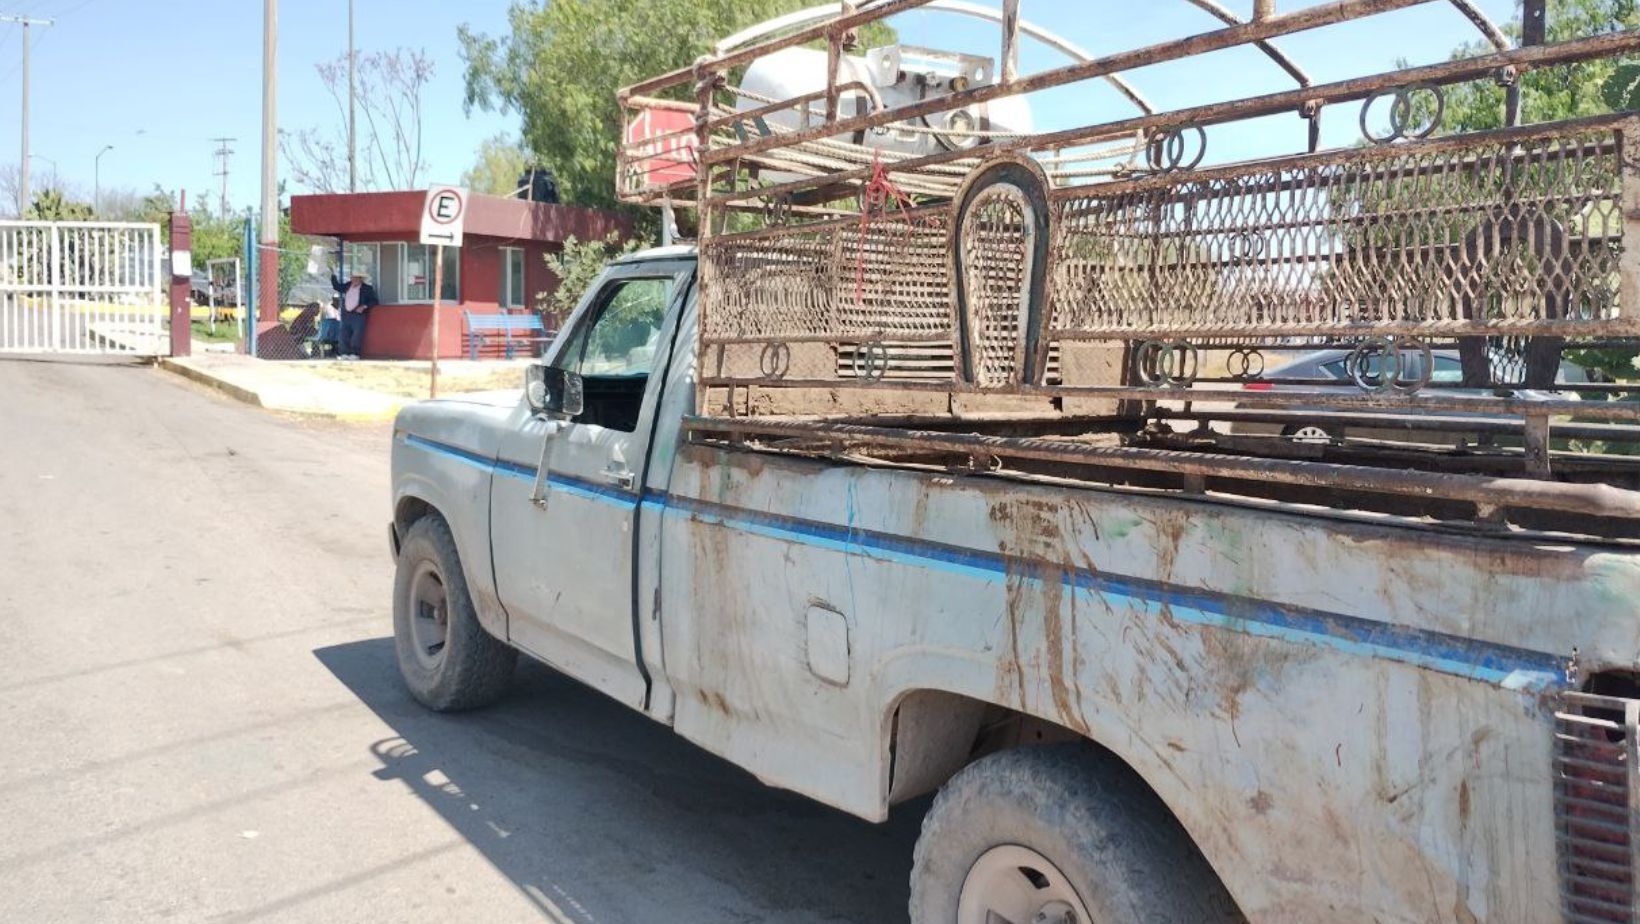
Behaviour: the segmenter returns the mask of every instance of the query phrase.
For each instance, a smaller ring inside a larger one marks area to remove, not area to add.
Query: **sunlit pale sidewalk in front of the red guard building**
[[[302,363],[269,363],[236,353],[212,353],[159,359],[159,368],[221,391],[246,404],[330,417],[335,420],[385,420],[407,397],[380,394],[313,374]]]

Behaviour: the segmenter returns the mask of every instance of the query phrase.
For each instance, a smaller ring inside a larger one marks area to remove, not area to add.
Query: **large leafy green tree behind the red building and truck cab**
[[[467,108],[517,112],[566,202],[615,205],[615,90],[690,64],[712,43],[812,0],[553,0],[508,10],[510,34],[461,26]],[[891,41],[886,28],[864,44]]]

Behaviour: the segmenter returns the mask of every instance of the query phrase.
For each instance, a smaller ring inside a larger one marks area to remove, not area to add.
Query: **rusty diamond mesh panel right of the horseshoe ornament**
[[[1061,336],[1632,333],[1614,133],[1055,194]]]

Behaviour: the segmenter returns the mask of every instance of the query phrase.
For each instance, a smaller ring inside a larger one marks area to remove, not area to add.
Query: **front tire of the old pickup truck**
[[[443,643],[433,652],[418,638],[430,638],[436,620],[436,606],[423,607],[417,596],[443,591]],[[425,591],[425,592],[423,592]],[[428,612],[431,611],[431,612]],[[426,620],[417,624],[417,620]],[[479,624],[467,594],[467,579],[461,571],[461,555],[449,524],[438,514],[428,514],[410,527],[399,547],[399,571],[394,579],[394,652],[399,655],[399,673],[410,688],[410,696],[436,712],[459,712],[489,706],[507,693],[513,663],[518,660],[505,642],[497,640]]]

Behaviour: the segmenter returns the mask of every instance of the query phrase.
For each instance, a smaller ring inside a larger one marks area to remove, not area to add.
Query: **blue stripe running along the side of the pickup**
[[[405,443],[503,478],[530,483],[536,478],[535,466],[487,460],[459,446],[423,437],[405,437]],[[548,483],[554,491],[594,502],[625,509],[633,509],[640,504],[638,494],[617,491],[567,474],[551,473]],[[1178,622],[1192,625],[1210,625],[1260,638],[1284,640],[1348,655],[1386,658],[1499,686],[1528,691],[1566,686],[1563,658],[1530,648],[1515,648],[1255,597],[1164,584],[1145,578],[1097,573],[1086,568],[1059,568],[1041,561],[1010,558],[995,551],[787,517],[784,514],[749,510],[659,491],[646,491],[641,504],[667,515],[687,515],[702,524],[722,525],[753,535],[863,555],[877,561],[895,561],[956,573],[984,581],[997,581],[1010,576],[1028,583],[1058,579],[1079,596],[1097,597],[1107,604],[1132,607],[1156,617],[1168,615]]]

